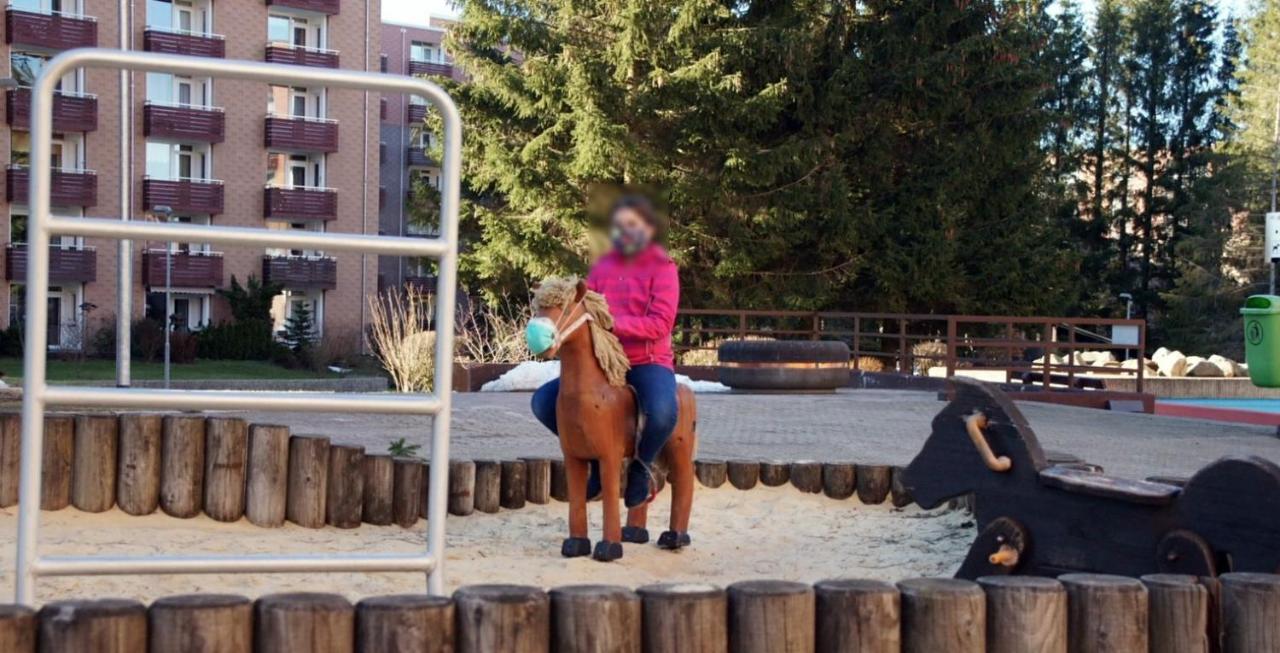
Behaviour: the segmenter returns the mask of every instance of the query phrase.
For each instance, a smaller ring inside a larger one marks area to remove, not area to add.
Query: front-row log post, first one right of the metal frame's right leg
[[[453,593],[458,653],[548,653],[550,601],[527,585],[468,585]]]

